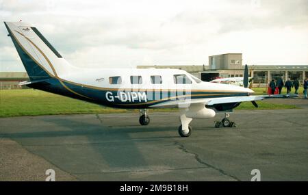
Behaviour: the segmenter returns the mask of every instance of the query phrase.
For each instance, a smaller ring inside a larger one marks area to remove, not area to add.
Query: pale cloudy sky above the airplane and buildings
[[[92,68],[308,64],[307,0],[0,0],[1,21],[37,27],[70,64]],[[25,71],[4,24],[0,71]]]

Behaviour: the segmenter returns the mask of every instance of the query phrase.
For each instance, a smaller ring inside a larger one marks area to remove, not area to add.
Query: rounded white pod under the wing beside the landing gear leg
[[[214,109],[206,108],[203,104],[192,104],[185,112],[188,118],[213,118],[216,115]]]

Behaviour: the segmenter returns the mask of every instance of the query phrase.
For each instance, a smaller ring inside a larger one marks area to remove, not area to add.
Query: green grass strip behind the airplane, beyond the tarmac
[[[262,88],[254,88],[257,94]],[[303,90],[302,90],[303,91]],[[288,109],[294,105],[272,104],[258,101],[259,109]],[[253,105],[242,103],[236,109],[256,109]],[[177,109],[150,109],[149,112],[177,111]],[[114,109],[93,103],[86,103],[68,97],[42,92],[40,90],[0,90],[0,117],[38,116],[51,114],[101,114],[119,112],[138,112],[138,109]]]

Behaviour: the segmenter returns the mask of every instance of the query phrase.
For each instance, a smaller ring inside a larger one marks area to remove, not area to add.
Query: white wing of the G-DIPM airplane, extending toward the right
[[[230,97],[220,97],[220,98],[206,98],[206,99],[185,99],[185,100],[176,100],[168,101],[164,103],[157,103],[151,105],[150,107],[183,107],[190,104],[203,104],[203,105],[215,105],[221,103],[236,103],[244,101],[258,101],[262,99],[269,98],[290,98],[297,97],[296,94],[278,94],[278,95],[259,95],[259,96],[230,96]]]

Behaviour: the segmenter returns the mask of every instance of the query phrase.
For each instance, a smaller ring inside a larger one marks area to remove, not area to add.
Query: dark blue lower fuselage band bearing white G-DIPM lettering
[[[49,81],[42,83],[30,84],[29,87],[38,90],[44,90],[63,96],[69,96],[74,99],[80,99],[99,105],[119,108],[147,108],[157,103],[166,101],[175,101],[179,99],[202,99],[215,98],[225,96],[246,96],[243,92],[190,92],[190,91],[131,91],[131,90],[103,90],[96,88],[88,88],[74,83],[62,81],[66,88],[56,78],[51,78]],[[68,90],[69,88],[70,90]],[[75,92],[75,93],[74,93]],[[87,98],[86,98],[87,97]]]

